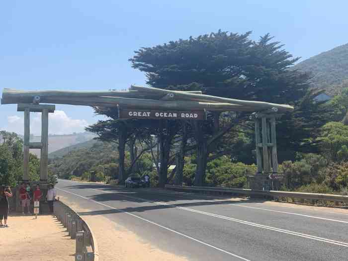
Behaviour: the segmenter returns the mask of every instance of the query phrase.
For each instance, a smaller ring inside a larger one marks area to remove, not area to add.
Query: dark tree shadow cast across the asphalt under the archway
[[[97,202],[117,201],[121,206],[117,209],[96,210],[79,213],[80,215],[104,215],[122,212],[145,212],[151,210],[169,209],[174,207],[195,207],[195,206],[215,206],[240,203],[264,202],[266,199],[250,199],[242,197],[233,197],[231,195],[205,195],[199,193],[177,192],[159,188],[135,188],[112,187],[103,184],[79,184],[69,186],[69,189],[75,191],[84,189],[93,189],[100,193],[88,196],[89,199]],[[77,192],[79,193],[79,192]],[[122,207],[122,205],[128,204]],[[135,206],[132,203],[141,204]],[[105,203],[106,204],[106,203]],[[111,206],[112,207],[112,206]]]

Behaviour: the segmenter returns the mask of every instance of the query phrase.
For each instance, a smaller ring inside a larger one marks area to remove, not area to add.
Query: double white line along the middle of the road
[[[105,190],[102,190],[102,189],[94,189],[94,188],[90,188],[90,189],[96,190],[98,192],[103,191],[105,193],[117,194],[117,192],[115,193],[115,192],[105,191]],[[271,230],[271,231],[276,231],[276,232],[279,232],[279,233],[289,234],[289,235],[293,235],[293,236],[297,236],[297,237],[301,237],[301,238],[307,238],[307,239],[312,239],[312,240],[316,240],[316,241],[320,241],[320,242],[334,244],[334,245],[338,245],[338,246],[342,246],[342,247],[348,247],[348,243],[345,243],[345,242],[340,242],[340,241],[326,239],[326,238],[321,238],[321,237],[317,237],[317,236],[312,236],[312,235],[308,235],[308,234],[304,234],[304,233],[300,233],[300,232],[294,232],[294,231],[289,231],[289,230],[285,230],[285,229],[270,227],[270,226],[266,226],[266,225],[262,225],[262,224],[258,224],[258,223],[249,222],[249,221],[246,221],[246,220],[241,220],[241,219],[221,216],[221,215],[217,215],[217,214],[213,214],[213,213],[205,212],[205,211],[199,211],[199,210],[195,210],[195,209],[192,209],[192,208],[180,207],[180,206],[176,206],[175,204],[168,204],[168,203],[165,203],[165,202],[158,202],[158,201],[156,202],[156,201],[148,200],[148,199],[145,199],[145,198],[134,197],[134,196],[129,196],[129,195],[122,195],[122,194],[118,194],[118,195],[121,196],[121,197],[123,196],[123,197],[143,200],[143,201],[147,201],[147,202],[150,202],[150,203],[155,203],[155,204],[158,204],[158,205],[166,205],[166,206],[170,206],[170,207],[174,207],[174,208],[178,208],[178,209],[182,209],[182,210],[187,210],[187,211],[191,211],[191,212],[202,214],[202,215],[207,215],[207,216],[212,216],[212,217],[216,217],[216,218],[221,218],[221,219],[225,219],[225,220],[229,220],[229,221],[233,221],[233,222],[237,222],[237,223],[241,223],[241,224],[245,224],[245,225],[249,225],[249,226],[254,226],[254,227],[258,227],[258,228],[263,228],[263,229],[267,229],[267,230]]]

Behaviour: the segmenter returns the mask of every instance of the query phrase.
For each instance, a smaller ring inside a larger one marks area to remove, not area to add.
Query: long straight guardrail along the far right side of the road
[[[334,194],[318,194],[318,193],[302,193],[302,192],[290,192],[290,191],[277,191],[277,190],[252,190],[244,188],[225,188],[225,187],[202,187],[202,186],[176,186],[166,185],[168,189],[180,190],[180,191],[211,191],[231,193],[236,195],[248,195],[248,196],[265,196],[273,197],[273,199],[279,198],[299,198],[302,200],[324,200],[333,202],[345,202],[348,204],[348,196],[334,195]]]

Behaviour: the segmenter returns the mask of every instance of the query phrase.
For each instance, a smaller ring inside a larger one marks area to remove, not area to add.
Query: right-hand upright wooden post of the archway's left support
[[[47,180],[48,164],[48,109],[43,109],[41,115],[41,158],[40,158],[40,180]]]

